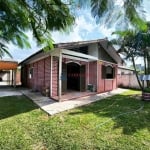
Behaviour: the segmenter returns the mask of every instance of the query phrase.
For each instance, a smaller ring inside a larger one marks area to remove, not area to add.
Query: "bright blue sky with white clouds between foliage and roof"
[[[118,5],[121,5],[122,0],[116,0]],[[150,0],[144,0],[144,10],[146,11],[146,20],[150,21]],[[96,21],[91,16],[89,9],[79,9],[77,11],[77,17],[75,20],[75,25],[73,26],[70,33],[62,32],[52,32],[52,39],[55,43],[62,42],[74,42],[74,41],[85,41],[85,40],[95,40],[95,39],[113,39],[115,35],[112,35],[112,32],[115,31],[115,26],[107,28],[104,24],[96,24]],[[13,56],[14,60],[18,62],[24,60],[28,56],[32,55],[40,48],[37,47],[35,41],[33,40],[32,33],[27,32],[29,41],[31,43],[30,49],[20,49],[13,44],[9,43],[8,48],[10,53]],[[7,57],[5,57],[7,58]],[[139,59],[139,63],[141,60]]]

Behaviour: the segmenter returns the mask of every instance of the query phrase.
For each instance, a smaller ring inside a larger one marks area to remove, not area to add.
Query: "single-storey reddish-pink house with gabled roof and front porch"
[[[51,98],[61,101],[74,91],[79,96],[89,90],[102,93],[116,89],[117,66],[121,64],[107,39],[59,43],[20,63],[21,82],[34,91],[46,89]]]

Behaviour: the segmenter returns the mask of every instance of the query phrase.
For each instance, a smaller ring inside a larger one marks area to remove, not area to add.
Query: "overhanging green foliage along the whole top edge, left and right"
[[[0,0],[0,57],[9,52],[5,43],[12,41],[22,47],[30,47],[25,31],[31,30],[39,44],[52,47],[50,32],[65,30],[74,22],[71,13],[72,5],[91,6],[91,12],[97,23],[105,20],[107,25],[118,20],[119,23],[130,23],[142,30],[146,29],[141,8],[143,0]],[[68,2],[68,3],[65,3]],[[72,3],[74,2],[74,3]]]

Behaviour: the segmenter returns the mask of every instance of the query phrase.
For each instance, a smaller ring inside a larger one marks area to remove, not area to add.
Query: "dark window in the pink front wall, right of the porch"
[[[112,66],[102,66],[102,78],[113,79],[115,78],[115,68]]]

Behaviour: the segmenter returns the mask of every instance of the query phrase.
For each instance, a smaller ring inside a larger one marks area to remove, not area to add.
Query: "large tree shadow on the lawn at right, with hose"
[[[122,128],[123,134],[131,135],[140,129],[150,131],[150,102],[137,99],[138,95],[116,95],[80,107],[79,111],[70,112],[70,115],[93,113],[99,117],[96,128],[114,122],[113,129]],[[101,118],[106,121],[102,122]]]

